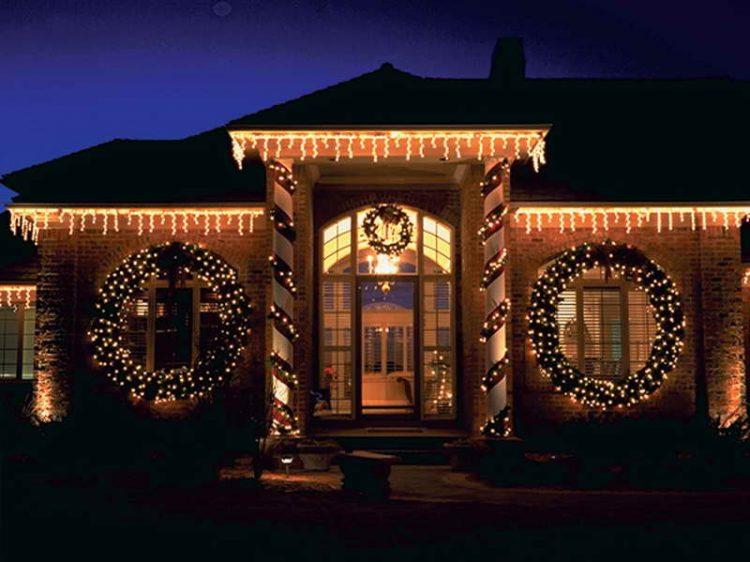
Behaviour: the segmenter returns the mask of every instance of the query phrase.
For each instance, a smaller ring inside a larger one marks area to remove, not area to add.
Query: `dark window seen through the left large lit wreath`
[[[193,279],[170,287],[153,280],[128,316],[133,361],[149,371],[191,367],[219,330],[216,294]]]

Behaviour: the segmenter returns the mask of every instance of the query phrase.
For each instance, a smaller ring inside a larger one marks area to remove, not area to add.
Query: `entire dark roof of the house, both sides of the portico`
[[[750,83],[422,78],[390,64],[246,115],[237,129],[551,123],[547,165],[513,168],[516,200],[748,200],[742,162]],[[117,140],[2,178],[15,202],[256,201],[260,166],[238,171],[224,129],[182,140]]]

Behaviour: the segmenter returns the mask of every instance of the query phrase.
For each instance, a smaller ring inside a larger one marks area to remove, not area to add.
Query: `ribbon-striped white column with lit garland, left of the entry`
[[[270,256],[273,271],[272,299],[269,318],[271,328],[271,392],[272,392],[272,432],[274,434],[297,433],[297,420],[291,408],[292,391],[297,387],[294,370],[294,341],[298,337],[294,325],[294,298],[297,288],[294,284],[292,264],[294,263],[294,201],[296,181],[289,167],[280,162],[270,161],[267,171],[273,182],[273,208],[269,216],[273,221]]]

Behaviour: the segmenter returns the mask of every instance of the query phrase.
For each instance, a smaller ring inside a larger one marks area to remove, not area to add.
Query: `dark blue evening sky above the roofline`
[[[747,4],[0,0],[0,174],[192,134],[384,61],[485,76],[501,35],[524,38],[530,76],[750,78]]]

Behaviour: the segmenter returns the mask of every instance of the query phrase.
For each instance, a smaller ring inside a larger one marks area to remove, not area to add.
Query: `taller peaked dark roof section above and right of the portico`
[[[230,122],[229,129],[551,123],[547,165],[513,167],[516,200],[744,201],[736,166],[750,82],[421,78],[378,70]]]

